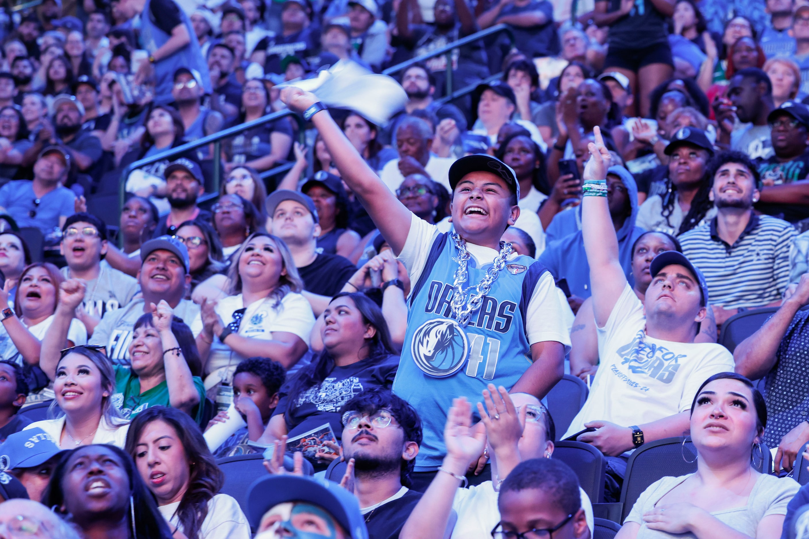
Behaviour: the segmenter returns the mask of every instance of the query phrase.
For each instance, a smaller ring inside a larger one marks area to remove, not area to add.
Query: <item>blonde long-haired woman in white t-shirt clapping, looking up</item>
[[[292,367],[307,352],[315,325],[303,281],[289,248],[271,234],[252,234],[234,255],[228,271],[231,295],[204,301],[192,328],[197,335],[205,389],[229,381],[239,361],[269,357]]]

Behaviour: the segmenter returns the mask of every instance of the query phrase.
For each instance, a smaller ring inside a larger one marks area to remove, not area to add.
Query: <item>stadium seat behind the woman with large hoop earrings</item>
[[[765,444],[761,444],[761,452],[765,458],[763,461],[754,461],[754,465],[756,470],[769,474],[773,469],[773,457]],[[653,482],[667,476],[679,477],[697,471],[697,461],[687,462],[683,455],[688,461],[697,458],[697,450],[692,441],[689,439],[683,444],[682,437],[655,440],[643,444],[632,453],[626,465],[624,486],[621,487],[621,522],[632,511],[638,496]]]

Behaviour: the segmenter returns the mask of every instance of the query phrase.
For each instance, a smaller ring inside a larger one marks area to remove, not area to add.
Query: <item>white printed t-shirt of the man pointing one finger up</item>
[[[690,410],[702,382],[735,366],[721,344],[676,343],[646,335],[643,304],[629,284],[607,324],[597,329],[601,363],[587,402],[560,440],[590,421],[629,427]]]

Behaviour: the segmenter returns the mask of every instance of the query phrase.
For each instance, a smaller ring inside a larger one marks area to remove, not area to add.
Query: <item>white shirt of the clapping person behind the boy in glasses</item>
[[[458,521],[455,522],[451,539],[492,539],[492,530],[500,522],[498,494],[491,481],[455,491],[452,509],[457,513]],[[587,528],[592,534],[593,505],[581,487],[578,494],[582,498]]]

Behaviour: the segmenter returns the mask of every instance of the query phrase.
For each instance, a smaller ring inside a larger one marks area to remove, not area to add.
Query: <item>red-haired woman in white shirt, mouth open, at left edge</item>
[[[6,311],[11,299],[11,279],[0,288],[0,311],[3,313],[0,316],[0,359],[15,361],[26,369],[28,378],[34,381],[30,388],[32,393],[48,385],[48,377],[39,368],[40,348],[45,332],[53,322],[59,284],[63,280],[57,267],[51,263],[28,265],[16,281],[13,314]],[[87,329],[76,318],[70,322],[67,339],[69,346],[87,343]]]

